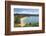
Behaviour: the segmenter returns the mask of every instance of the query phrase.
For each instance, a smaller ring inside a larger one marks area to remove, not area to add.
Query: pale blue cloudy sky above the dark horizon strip
[[[14,8],[14,13],[18,14],[39,14],[39,9]]]

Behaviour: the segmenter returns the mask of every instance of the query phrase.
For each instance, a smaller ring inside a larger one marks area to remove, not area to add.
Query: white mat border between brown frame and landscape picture
[[[15,27],[14,28],[14,8],[33,8],[39,9],[39,27]],[[42,7],[41,6],[22,6],[22,5],[11,5],[11,31],[28,31],[28,30],[42,30]]]

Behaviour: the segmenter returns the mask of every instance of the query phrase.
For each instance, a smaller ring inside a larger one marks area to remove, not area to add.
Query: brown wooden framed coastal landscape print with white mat
[[[5,1],[5,34],[44,33],[44,3]]]

